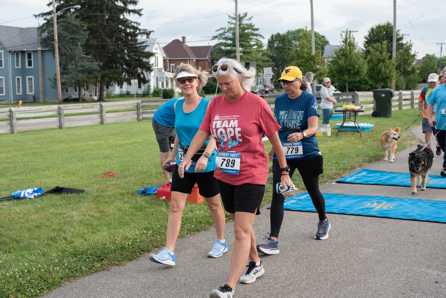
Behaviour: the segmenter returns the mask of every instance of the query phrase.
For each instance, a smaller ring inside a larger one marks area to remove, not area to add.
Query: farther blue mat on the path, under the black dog
[[[376,185],[396,185],[410,186],[409,173],[393,173],[377,170],[362,169],[337,182],[353,184],[376,184]],[[426,183],[430,188],[446,188],[446,177],[440,175],[430,175]]]

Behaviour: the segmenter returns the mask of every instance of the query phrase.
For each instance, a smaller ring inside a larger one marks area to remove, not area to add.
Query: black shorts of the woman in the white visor
[[[197,183],[198,192],[205,198],[211,198],[219,194],[219,186],[217,179],[214,178],[214,171],[199,173],[184,172],[184,178],[180,178],[180,175],[178,175],[178,166],[173,169],[170,191],[190,194],[195,183]]]

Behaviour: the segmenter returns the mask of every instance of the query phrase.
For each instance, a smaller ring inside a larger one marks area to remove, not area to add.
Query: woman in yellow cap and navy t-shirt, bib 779
[[[285,88],[285,94],[276,98],[274,113],[281,128],[279,137],[285,151],[289,176],[294,170],[301,174],[302,181],[310,194],[314,207],[318,211],[318,230],[314,239],[326,239],[330,223],[325,215],[325,199],[319,190],[319,174],[323,173],[323,158],[318,148],[315,134],[318,130],[318,102],[314,95],[304,91],[306,83],[302,82],[302,72],[296,66],[286,67],[281,78],[277,80]],[[257,245],[259,252],[279,253],[278,240],[283,221],[284,196],[276,191],[284,169],[280,169],[273,149],[268,154],[273,161],[273,201],[271,203],[271,232],[267,241]]]

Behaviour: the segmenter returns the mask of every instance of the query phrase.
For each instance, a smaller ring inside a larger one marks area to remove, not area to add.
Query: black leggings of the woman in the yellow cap
[[[318,211],[319,221],[326,219],[325,199],[319,190],[319,175],[324,172],[323,157],[318,155],[307,160],[287,160],[290,172],[289,177],[293,176],[294,170],[299,171],[302,181],[310,194],[316,211]],[[284,197],[276,191],[277,183],[281,182],[282,172],[277,159],[273,160],[273,202],[271,203],[271,212],[269,218],[271,221],[271,236],[278,238],[283,221],[283,203]]]

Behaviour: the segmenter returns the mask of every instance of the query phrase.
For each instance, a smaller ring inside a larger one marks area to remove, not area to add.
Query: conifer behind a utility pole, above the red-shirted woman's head
[[[214,46],[216,59],[222,57],[236,58],[235,16],[228,15],[228,17],[227,26],[217,29],[217,34],[212,37],[219,40]],[[265,49],[260,40],[264,37],[258,33],[259,29],[252,24],[251,19],[252,17],[248,17],[248,12],[239,14],[240,60],[256,61],[257,69],[261,70],[263,67],[270,66],[271,60],[268,57],[268,50]]]

